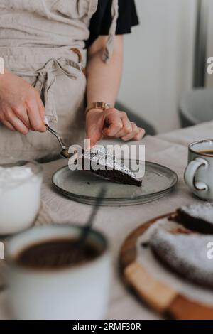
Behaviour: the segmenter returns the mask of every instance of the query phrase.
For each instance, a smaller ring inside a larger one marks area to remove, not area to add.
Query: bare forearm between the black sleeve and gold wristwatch
[[[87,63],[87,104],[103,101],[114,106],[119,92],[123,65],[123,37],[115,36],[114,53],[109,63],[102,54],[107,37],[100,36],[89,48]]]

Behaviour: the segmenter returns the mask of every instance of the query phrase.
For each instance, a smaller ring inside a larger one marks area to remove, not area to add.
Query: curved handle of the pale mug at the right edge
[[[191,161],[187,168],[185,169],[184,179],[185,183],[192,189],[192,190],[208,190],[208,186],[204,182],[195,182],[195,176],[200,167],[207,167],[208,163],[206,160],[202,158],[195,158],[195,160]]]

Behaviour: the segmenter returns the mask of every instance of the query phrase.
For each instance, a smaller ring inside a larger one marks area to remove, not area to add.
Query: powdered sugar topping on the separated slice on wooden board
[[[192,204],[188,206],[182,206],[180,209],[191,217],[199,218],[213,224],[212,203]]]

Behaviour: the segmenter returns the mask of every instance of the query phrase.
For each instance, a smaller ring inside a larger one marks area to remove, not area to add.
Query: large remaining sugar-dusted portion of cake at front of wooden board
[[[200,235],[184,227],[159,226],[152,233],[149,244],[168,269],[196,284],[213,288],[213,266],[207,257],[211,235]]]

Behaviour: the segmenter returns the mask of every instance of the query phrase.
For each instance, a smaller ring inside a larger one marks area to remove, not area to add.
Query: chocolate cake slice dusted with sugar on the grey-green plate
[[[104,146],[94,146],[91,150],[83,153],[83,169],[102,176],[111,181],[136,185],[141,187],[142,181],[137,178],[122,161],[107,150]]]

